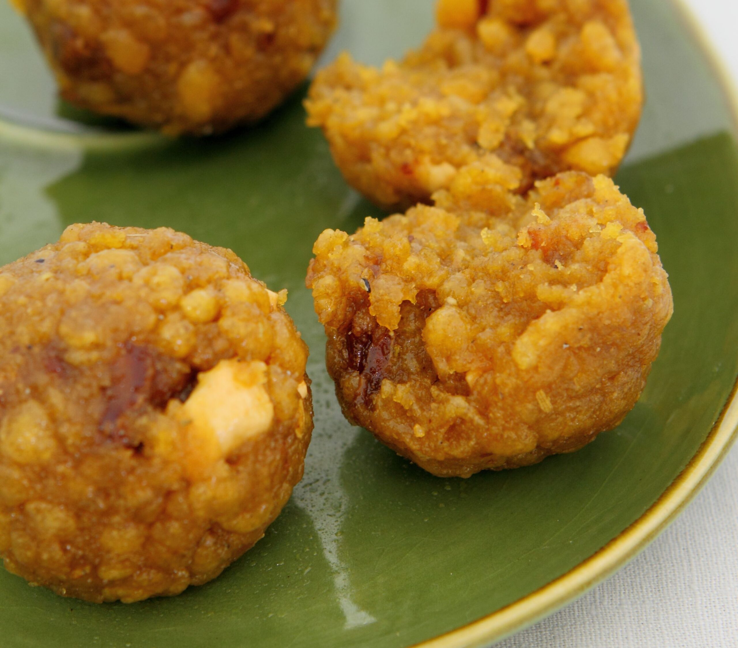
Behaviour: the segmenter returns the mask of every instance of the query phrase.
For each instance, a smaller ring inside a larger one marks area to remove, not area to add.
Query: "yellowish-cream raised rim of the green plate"
[[[670,0],[713,68],[738,131],[738,86],[706,27],[686,0]],[[599,551],[523,598],[455,630],[408,648],[479,648],[521,632],[583,596],[644,551],[676,520],[738,441],[738,379],[700,449],[661,497]]]

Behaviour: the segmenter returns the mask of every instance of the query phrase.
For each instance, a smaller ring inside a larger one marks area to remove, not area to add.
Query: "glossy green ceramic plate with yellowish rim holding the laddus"
[[[439,480],[351,428],[303,286],[311,243],[376,209],[303,126],[301,96],[258,128],[165,141],[55,100],[29,32],[0,4],[0,263],[69,223],[184,230],[231,247],[312,350],[306,477],[264,540],[175,599],[96,606],[0,571],[4,648],[400,648],[489,644],[618,568],[689,500],[733,437],[738,374],[738,157],[718,75],[683,15],[637,0],[648,106],[618,180],[644,207],[676,313],[624,424],[514,472]],[[417,44],[431,0],[345,0],[342,48],[379,62]],[[725,413],[722,424],[717,424]],[[435,639],[434,639],[435,638]]]

